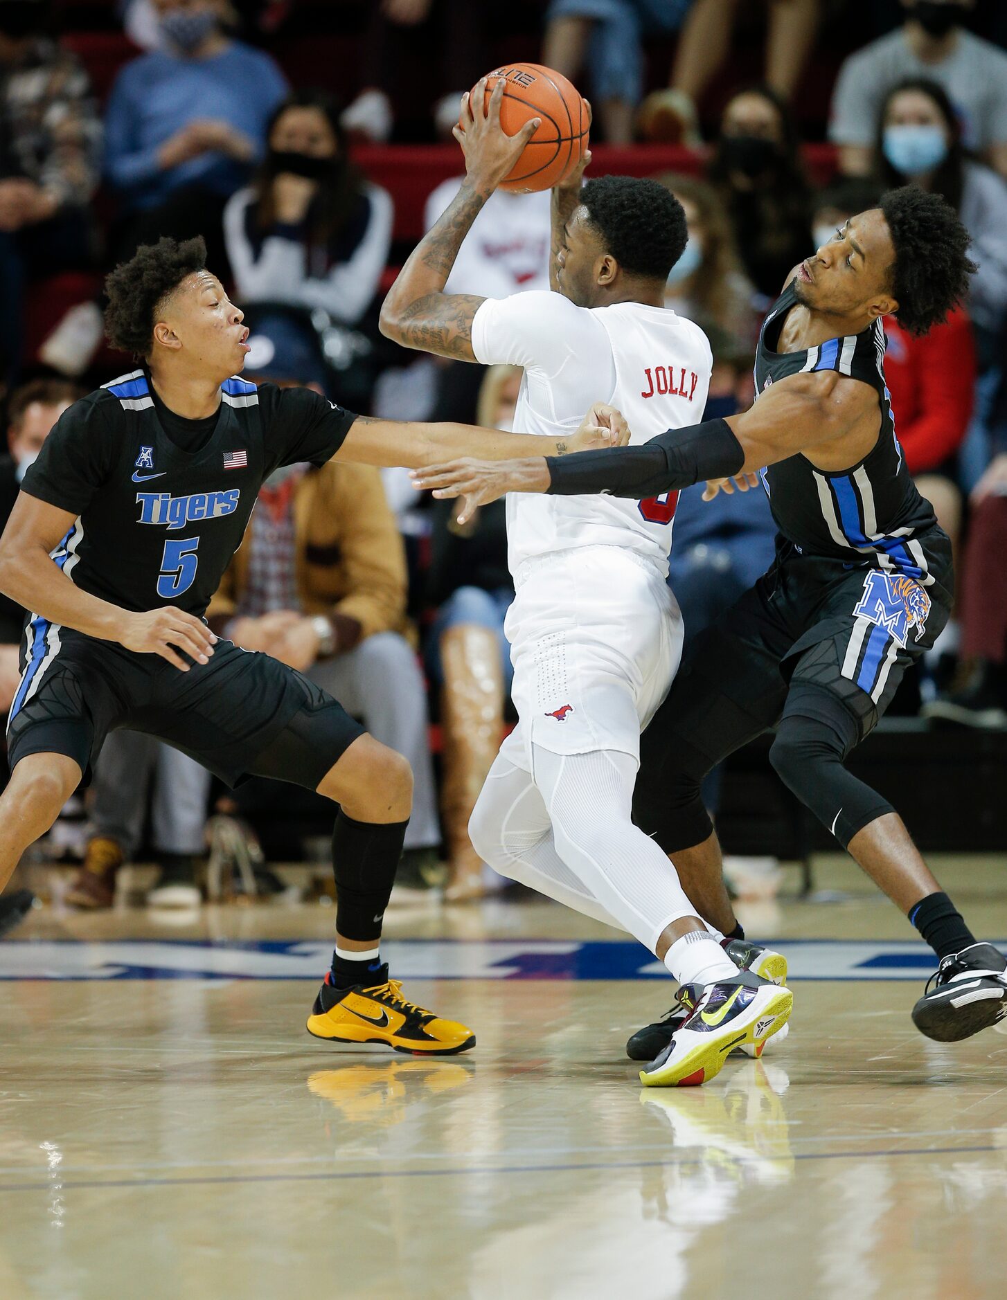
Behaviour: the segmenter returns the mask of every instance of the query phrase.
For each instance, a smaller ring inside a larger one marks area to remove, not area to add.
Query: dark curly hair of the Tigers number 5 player
[[[180,243],[163,235],[156,244],[141,244],[129,261],[105,277],[105,337],[120,352],[150,356],[157,307],[172,290],[198,270],[206,270],[207,246],[202,235]]]

